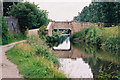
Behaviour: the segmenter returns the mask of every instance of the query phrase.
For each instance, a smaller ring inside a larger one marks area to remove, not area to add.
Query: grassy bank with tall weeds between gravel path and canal
[[[10,61],[17,64],[24,78],[66,78],[58,70],[58,60],[46,43],[38,36],[31,36],[7,51]]]

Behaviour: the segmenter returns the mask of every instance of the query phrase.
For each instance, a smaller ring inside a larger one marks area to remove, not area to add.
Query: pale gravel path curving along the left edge
[[[21,42],[25,42],[25,40],[23,41],[18,41],[18,42],[14,42],[8,45],[4,45],[4,46],[0,46],[0,78],[22,78],[22,76],[19,74],[19,71],[17,69],[17,66],[15,64],[13,64],[12,62],[10,62],[7,59],[7,56],[5,55],[5,52],[7,50],[9,50],[10,48],[12,48],[15,44],[17,43],[21,43]]]

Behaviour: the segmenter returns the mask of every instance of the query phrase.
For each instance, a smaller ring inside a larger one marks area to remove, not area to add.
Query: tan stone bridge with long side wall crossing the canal
[[[88,22],[77,22],[77,21],[67,21],[67,22],[56,22],[50,21],[46,31],[49,36],[52,36],[52,31],[54,29],[67,29],[71,30],[71,34],[74,32],[81,31],[84,28],[96,25],[96,27],[102,27],[102,23],[88,23]]]

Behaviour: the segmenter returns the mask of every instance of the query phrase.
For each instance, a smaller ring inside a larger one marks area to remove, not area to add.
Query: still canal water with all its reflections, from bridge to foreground
[[[120,54],[83,44],[72,44],[67,37],[53,47],[59,69],[68,78],[104,78],[120,76]]]

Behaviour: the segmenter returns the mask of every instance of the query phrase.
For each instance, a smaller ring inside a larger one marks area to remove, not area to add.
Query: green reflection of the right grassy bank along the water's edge
[[[73,47],[93,56],[93,58],[99,58],[105,61],[110,61],[116,64],[120,64],[120,54],[118,52],[105,51],[97,48],[96,46],[90,46],[86,44],[72,44]]]

